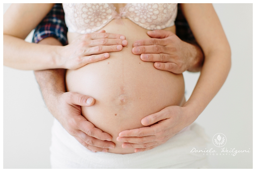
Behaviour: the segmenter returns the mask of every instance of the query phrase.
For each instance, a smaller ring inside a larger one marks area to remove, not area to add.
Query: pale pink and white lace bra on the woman
[[[148,30],[174,25],[177,4],[126,4],[116,12],[113,4],[63,4],[68,32],[80,34],[100,30],[112,19],[128,18]]]

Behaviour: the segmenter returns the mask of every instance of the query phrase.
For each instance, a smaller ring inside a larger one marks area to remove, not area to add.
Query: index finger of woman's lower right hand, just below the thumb
[[[119,133],[119,137],[143,137],[143,136],[153,136],[157,133],[157,128],[154,125],[150,127],[136,128],[132,130],[125,130]]]

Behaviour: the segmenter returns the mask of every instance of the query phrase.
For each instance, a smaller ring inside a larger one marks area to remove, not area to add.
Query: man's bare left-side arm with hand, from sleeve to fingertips
[[[52,37],[43,39],[39,44],[61,45]],[[115,147],[115,144],[110,142],[112,137],[96,128],[81,115],[81,106],[92,106],[94,99],[78,93],[66,92],[65,74],[65,69],[35,71],[47,108],[67,132],[83,146],[92,152],[108,152],[108,148]]]

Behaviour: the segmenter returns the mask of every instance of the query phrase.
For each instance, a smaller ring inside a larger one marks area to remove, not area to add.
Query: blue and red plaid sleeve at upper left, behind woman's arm
[[[68,28],[65,24],[62,4],[55,4],[47,16],[35,28],[32,42],[38,43],[47,37],[58,39],[63,46],[68,44]]]

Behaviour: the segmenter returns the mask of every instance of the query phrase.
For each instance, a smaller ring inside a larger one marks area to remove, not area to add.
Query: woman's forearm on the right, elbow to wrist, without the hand
[[[228,45],[226,50],[219,50],[205,55],[204,65],[196,87],[184,105],[190,111],[188,124],[196,120],[220,90],[228,76],[230,67],[231,53]]]

